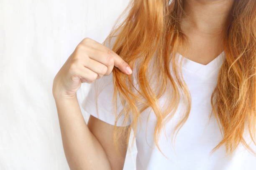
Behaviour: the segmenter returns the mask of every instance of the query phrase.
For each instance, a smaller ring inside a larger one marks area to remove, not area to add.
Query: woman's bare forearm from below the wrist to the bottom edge
[[[77,97],[56,98],[64,152],[71,170],[110,170],[110,163],[99,141],[82,116]]]

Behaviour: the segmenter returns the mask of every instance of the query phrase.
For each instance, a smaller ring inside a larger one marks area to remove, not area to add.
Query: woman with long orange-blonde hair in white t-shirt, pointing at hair
[[[121,170],[133,129],[137,170],[256,169],[255,9],[133,0],[104,45],[82,40],[53,85],[69,167]]]

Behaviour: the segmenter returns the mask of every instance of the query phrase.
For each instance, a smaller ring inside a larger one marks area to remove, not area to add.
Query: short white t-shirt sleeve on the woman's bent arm
[[[103,76],[100,79],[91,83],[88,95],[82,101],[82,108],[90,115],[107,122],[110,125],[115,125],[117,115],[123,109],[119,98],[117,97],[117,112],[114,112],[112,97],[114,94],[113,73]],[[117,120],[117,126],[127,126],[131,124],[131,119],[128,117],[124,121],[124,114]]]

